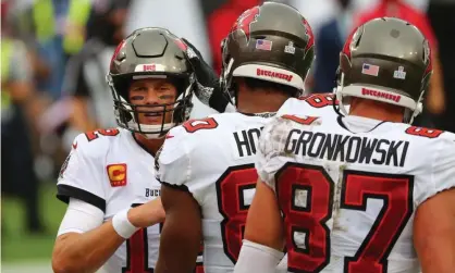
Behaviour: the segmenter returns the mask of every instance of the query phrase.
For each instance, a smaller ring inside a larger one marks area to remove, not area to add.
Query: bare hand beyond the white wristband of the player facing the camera
[[[165,212],[158,197],[128,211],[128,220],[136,227],[147,227],[164,222]]]

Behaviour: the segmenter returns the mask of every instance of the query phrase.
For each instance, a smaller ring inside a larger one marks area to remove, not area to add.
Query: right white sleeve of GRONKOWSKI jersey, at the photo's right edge
[[[440,191],[455,187],[455,135],[444,132],[434,139],[436,154],[431,165],[431,181],[426,182],[427,187],[418,190],[416,204],[419,206],[428,198]]]

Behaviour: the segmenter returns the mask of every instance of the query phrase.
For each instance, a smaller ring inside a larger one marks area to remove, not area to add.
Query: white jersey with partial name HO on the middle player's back
[[[159,179],[192,193],[201,208],[206,273],[233,272],[258,178],[254,166],[268,117],[214,114],[172,128]]]

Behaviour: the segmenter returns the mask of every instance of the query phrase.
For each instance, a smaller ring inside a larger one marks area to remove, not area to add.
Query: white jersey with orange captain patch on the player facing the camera
[[[126,129],[78,135],[57,184],[58,198],[77,198],[104,212],[104,221],[131,206],[160,196],[153,157]],[[136,232],[102,266],[103,272],[152,272],[158,260],[160,226]]]

